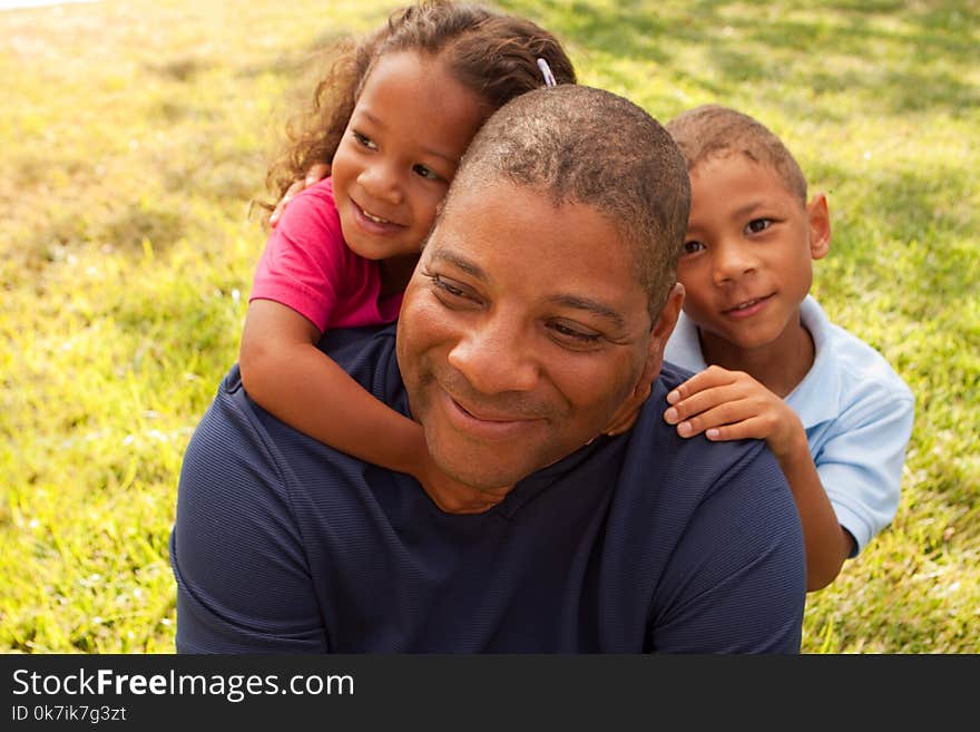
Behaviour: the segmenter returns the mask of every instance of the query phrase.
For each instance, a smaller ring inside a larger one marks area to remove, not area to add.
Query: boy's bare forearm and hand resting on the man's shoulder
[[[829,585],[851,554],[853,539],[834,514],[820,481],[806,432],[780,397],[741,371],[712,365],[667,394],[664,413],[680,437],[705,433],[713,441],[763,439],[793,491],[806,546],[806,589]]]

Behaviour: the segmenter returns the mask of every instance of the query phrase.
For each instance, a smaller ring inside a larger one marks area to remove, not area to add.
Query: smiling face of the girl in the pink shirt
[[[369,260],[416,254],[489,116],[438,59],[382,56],[364,82],[331,175],[344,241]]]

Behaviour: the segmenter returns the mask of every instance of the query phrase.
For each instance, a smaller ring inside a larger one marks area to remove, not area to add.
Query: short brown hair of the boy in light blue
[[[806,205],[806,176],[793,154],[757,119],[721,105],[702,105],[682,113],[667,131],[684,153],[687,168],[715,156],[745,155],[771,167],[786,189]]]

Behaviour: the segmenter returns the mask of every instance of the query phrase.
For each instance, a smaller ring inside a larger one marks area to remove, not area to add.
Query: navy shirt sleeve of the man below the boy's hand
[[[696,484],[703,468],[687,465]],[[655,653],[795,654],[805,597],[800,516],[778,463],[759,445],[714,482],[692,515],[657,589],[649,646]]]

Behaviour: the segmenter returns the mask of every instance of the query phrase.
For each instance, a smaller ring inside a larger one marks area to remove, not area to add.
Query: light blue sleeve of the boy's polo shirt
[[[837,521],[854,537],[852,557],[895,516],[913,418],[911,392],[864,399],[836,420],[814,455]]]

